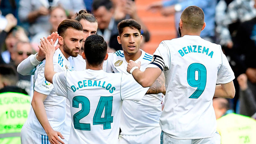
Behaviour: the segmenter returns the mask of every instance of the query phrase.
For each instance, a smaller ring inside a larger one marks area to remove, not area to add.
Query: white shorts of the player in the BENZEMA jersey
[[[162,131],[160,144],[220,144],[220,134],[216,132],[211,138],[181,140],[174,139]]]

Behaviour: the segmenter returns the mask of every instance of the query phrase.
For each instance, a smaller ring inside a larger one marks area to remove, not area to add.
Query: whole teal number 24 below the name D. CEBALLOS
[[[90,131],[90,124],[80,123],[79,121],[87,116],[90,112],[90,101],[85,96],[75,96],[72,100],[72,107],[79,108],[79,103],[82,104],[82,109],[74,114],[74,128],[83,131]],[[111,97],[100,97],[98,106],[93,116],[93,125],[103,124],[103,129],[111,129],[111,123],[113,123],[112,114],[112,103],[113,96]],[[105,108],[104,117],[101,117]]]

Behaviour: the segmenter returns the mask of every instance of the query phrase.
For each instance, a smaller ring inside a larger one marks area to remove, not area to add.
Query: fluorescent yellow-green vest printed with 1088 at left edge
[[[20,144],[21,128],[30,106],[30,97],[26,94],[0,93],[0,144]]]

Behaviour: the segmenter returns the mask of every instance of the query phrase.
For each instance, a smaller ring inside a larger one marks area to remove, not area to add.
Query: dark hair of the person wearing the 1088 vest
[[[18,81],[18,73],[13,68],[12,65],[9,64],[1,64],[0,65],[0,78],[1,80],[7,80],[11,82],[11,85],[16,85]]]

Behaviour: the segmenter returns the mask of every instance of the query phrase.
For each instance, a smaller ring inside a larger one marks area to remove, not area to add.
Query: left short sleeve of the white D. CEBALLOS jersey
[[[54,91],[59,96],[68,97],[67,89],[67,73],[69,70],[56,73],[52,77],[52,83],[54,85]]]

